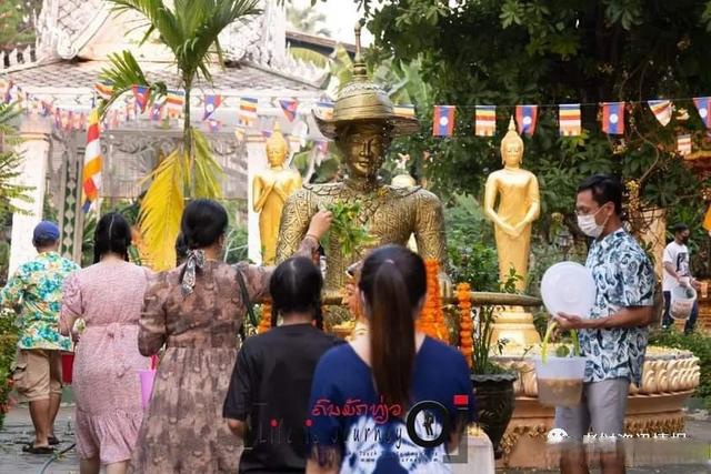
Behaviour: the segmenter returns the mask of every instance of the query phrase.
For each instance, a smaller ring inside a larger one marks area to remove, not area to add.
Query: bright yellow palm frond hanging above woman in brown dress
[[[153,182],[141,201],[139,222],[153,270],[174,266],[174,242],[184,209],[186,155],[180,148],[153,172]]]

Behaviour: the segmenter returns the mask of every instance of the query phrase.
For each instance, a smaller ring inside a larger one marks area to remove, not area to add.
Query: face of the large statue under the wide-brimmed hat
[[[352,178],[372,178],[385,161],[390,130],[382,122],[354,123],[340,131],[337,143]]]

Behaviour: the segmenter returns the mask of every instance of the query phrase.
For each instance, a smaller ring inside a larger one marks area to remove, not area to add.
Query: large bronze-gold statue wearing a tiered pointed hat
[[[360,53],[359,28],[356,44],[353,79],[339,93],[333,118],[314,114],[321,133],[334,139],[341,150],[348,175],[337,183],[306,184],[289,198],[281,218],[277,261],[294,252],[317,211],[336,202],[360,202],[358,219],[373,235],[372,246],[404,245],[414,234],[420,254],[443,264],[447,253],[439,198],[419,186],[388,185],[378,177],[392,138],[418,131],[419,122],[395,115],[388,94],[369,81]],[[341,254],[333,240],[326,249],[326,289],[341,290],[346,269],[353,262]]]

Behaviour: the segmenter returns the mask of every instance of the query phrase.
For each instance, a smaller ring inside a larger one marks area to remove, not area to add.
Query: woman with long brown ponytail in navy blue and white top
[[[445,454],[473,421],[472,385],[461,353],[414,329],[424,262],[403,246],[375,249],[358,289],[369,330],[319,361],[307,473],[449,472]]]

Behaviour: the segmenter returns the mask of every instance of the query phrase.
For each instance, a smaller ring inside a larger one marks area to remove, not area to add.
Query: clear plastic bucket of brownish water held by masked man
[[[538,401],[544,406],[575,406],[582,397],[585,357],[541,357],[535,363]]]

